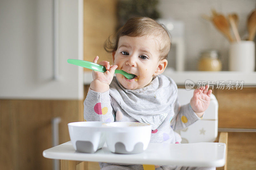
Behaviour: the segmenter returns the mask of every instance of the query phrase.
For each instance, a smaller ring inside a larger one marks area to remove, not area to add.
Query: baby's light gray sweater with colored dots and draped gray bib
[[[113,78],[107,92],[89,90],[84,100],[85,121],[145,122],[152,125],[151,143],[177,143],[174,130],[200,119],[190,104],[180,106],[177,85],[164,75],[141,89],[129,90]],[[192,96],[191,96],[192,97]]]

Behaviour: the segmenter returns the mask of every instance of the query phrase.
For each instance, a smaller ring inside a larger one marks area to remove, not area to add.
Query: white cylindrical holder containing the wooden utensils
[[[230,44],[229,70],[251,72],[255,69],[255,43],[239,41]]]

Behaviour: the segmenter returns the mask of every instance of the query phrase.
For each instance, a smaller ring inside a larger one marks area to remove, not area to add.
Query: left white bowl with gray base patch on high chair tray
[[[105,143],[102,124],[106,122],[68,123],[69,136],[74,149],[78,152],[94,153]]]

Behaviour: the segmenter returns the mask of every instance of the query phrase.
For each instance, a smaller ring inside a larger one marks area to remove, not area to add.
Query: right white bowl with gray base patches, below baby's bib
[[[148,148],[151,125],[141,122],[110,122],[103,126],[108,149],[114,153],[140,153]]]

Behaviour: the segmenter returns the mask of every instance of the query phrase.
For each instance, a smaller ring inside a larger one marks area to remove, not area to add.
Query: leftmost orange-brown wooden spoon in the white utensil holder
[[[233,38],[230,33],[230,26],[228,24],[227,18],[223,15],[218,14],[215,10],[212,10],[212,22],[213,25],[224,35],[228,38],[230,42],[233,42]]]

